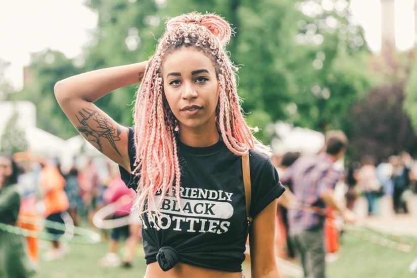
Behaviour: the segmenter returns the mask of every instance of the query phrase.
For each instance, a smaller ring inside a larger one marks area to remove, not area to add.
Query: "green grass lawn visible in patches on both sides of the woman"
[[[417,244],[416,238],[409,238]],[[142,246],[138,246],[136,261],[132,268],[101,267],[98,260],[107,252],[107,242],[97,244],[70,244],[71,252],[64,259],[39,262],[35,278],[94,278],[94,277],[143,277],[145,260]],[[411,261],[417,252],[404,253],[382,247],[345,233],[341,238],[339,259],[328,264],[328,277],[410,277]],[[247,265],[244,265],[245,272]],[[249,276],[248,274],[246,276]]]

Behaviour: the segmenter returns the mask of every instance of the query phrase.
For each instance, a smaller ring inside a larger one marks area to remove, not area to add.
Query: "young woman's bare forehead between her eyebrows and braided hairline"
[[[164,75],[170,72],[191,73],[194,70],[206,69],[215,73],[214,64],[207,55],[194,47],[181,47],[169,53],[162,64]]]

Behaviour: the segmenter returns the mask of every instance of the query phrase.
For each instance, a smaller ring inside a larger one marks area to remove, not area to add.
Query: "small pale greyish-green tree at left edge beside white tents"
[[[28,149],[25,131],[18,126],[18,119],[19,113],[14,109],[2,135],[1,152],[13,154]]]

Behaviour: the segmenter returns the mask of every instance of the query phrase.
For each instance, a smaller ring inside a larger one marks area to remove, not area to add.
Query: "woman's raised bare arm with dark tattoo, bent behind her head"
[[[116,123],[93,102],[115,89],[141,82],[147,63],[82,73],[61,80],[54,87],[59,105],[78,132],[129,172],[128,129]]]

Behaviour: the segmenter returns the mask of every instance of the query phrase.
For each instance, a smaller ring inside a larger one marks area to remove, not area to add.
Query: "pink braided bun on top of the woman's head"
[[[222,45],[229,42],[231,28],[227,21],[215,14],[200,14],[192,12],[174,17],[167,22],[166,29],[171,30],[182,24],[198,24],[206,27]]]

